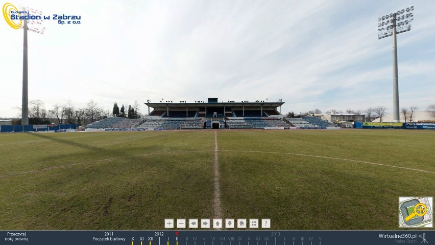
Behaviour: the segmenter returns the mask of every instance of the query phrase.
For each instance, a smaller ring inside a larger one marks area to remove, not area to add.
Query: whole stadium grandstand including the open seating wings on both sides
[[[87,126],[92,129],[240,129],[240,128],[327,128],[335,127],[318,117],[284,118],[281,101],[228,101],[217,98],[188,103],[150,102],[142,119],[106,118]]]

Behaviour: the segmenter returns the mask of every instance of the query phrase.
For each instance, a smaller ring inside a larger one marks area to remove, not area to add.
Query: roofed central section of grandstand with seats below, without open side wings
[[[283,102],[147,102],[148,117],[138,128],[211,129],[289,127],[279,112]],[[279,109],[279,110],[278,110]]]

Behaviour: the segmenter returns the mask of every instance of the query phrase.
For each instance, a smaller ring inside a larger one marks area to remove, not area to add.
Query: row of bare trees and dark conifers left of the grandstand
[[[116,104],[116,102],[115,102]],[[108,117],[129,117],[140,118],[137,101],[129,105],[128,112],[125,114],[124,105],[118,112],[104,110],[93,100],[90,100],[85,107],[75,107],[70,100],[63,105],[55,104],[51,109],[45,108],[45,103],[42,100],[31,100],[29,102],[29,124],[74,124],[86,125]],[[17,107],[21,112],[21,108]],[[125,116],[124,116],[125,115]]]

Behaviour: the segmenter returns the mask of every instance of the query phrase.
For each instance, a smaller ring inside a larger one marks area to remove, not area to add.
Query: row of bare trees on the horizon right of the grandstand
[[[403,107],[401,109],[401,113],[403,114],[403,116],[405,118],[405,122],[412,122],[414,112],[418,109],[419,109],[418,106],[411,106],[411,107],[409,107],[409,109]],[[432,116],[435,117],[435,104],[429,105],[429,107],[427,109],[430,112],[432,112]],[[296,115],[296,116],[295,116],[294,112],[289,112],[285,116],[286,117],[302,117],[302,116],[321,114],[321,113],[322,113],[322,111],[320,109],[312,109],[312,110],[309,110],[308,112],[299,113],[299,115]],[[377,118],[379,118],[380,122],[382,122],[382,118],[385,117],[385,115],[387,115],[385,106],[369,107],[365,110],[347,109],[347,110],[345,110],[345,112],[343,112],[343,110],[331,109],[331,110],[328,110],[327,113],[331,113],[331,114],[348,113],[348,114],[356,114],[356,115],[365,115],[365,117],[366,117],[365,119],[367,122],[371,122]]]

